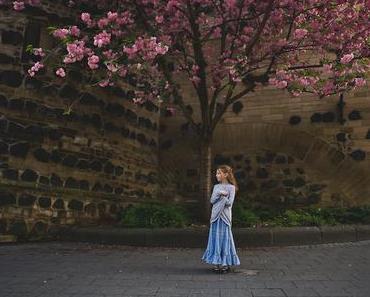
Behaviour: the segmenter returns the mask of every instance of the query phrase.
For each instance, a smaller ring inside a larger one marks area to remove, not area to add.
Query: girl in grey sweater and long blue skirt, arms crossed
[[[226,273],[230,271],[231,265],[240,265],[231,232],[231,210],[238,186],[233,170],[228,165],[221,165],[217,168],[216,178],[219,183],[213,187],[210,199],[212,204],[211,226],[207,249],[202,260],[213,264],[213,271]]]

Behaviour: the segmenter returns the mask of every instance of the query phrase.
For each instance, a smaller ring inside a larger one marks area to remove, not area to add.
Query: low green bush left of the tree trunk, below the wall
[[[121,225],[136,228],[184,227],[188,224],[185,210],[163,203],[129,206],[121,213]]]

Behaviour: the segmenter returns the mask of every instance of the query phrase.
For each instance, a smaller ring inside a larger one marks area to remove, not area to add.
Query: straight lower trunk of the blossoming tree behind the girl
[[[207,224],[211,215],[210,197],[212,191],[212,141],[200,141],[200,220]]]

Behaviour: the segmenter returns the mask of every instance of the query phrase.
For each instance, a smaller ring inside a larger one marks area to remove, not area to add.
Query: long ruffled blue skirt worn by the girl
[[[210,226],[208,245],[202,260],[214,265],[240,265],[231,226],[227,225],[221,218],[218,218]]]

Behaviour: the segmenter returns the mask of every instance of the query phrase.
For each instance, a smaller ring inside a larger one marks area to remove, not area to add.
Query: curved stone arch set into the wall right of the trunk
[[[246,137],[248,141],[245,141]],[[301,160],[351,205],[369,201],[368,162],[353,160],[317,135],[288,125],[263,122],[222,124],[215,131],[214,154],[261,148],[287,153]]]

